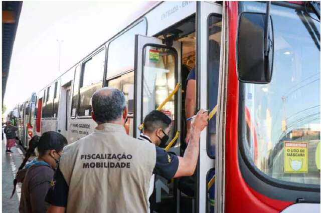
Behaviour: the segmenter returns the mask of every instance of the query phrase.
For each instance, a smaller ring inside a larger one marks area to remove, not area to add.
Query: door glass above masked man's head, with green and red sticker
[[[143,50],[143,100],[142,118],[159,105],[175,89],[176,52],[172,49],[146,46]],[[162,108],[162,111],[175,121],[175,96]],[[141,121],[142,122],[142,121]],[[170,138],[175,134],[169,134]]]

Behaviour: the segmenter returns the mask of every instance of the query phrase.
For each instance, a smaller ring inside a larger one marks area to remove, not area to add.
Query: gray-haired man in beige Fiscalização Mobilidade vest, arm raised
[[[199,138],[208,114],[200,110],[192,123],[184,157],[128,136],[125,97],[102,88],[92,96],[95,131],[66,146],[46,201],[49,213],[148,212],[152,173],[167,179],[194,173]],[[171,168],[171,169],[169,169]]]

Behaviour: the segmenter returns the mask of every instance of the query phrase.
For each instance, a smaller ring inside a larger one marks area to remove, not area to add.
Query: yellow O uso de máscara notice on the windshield
[[[284,173],[304,173],[307,169],[307,143],[284,141]]]

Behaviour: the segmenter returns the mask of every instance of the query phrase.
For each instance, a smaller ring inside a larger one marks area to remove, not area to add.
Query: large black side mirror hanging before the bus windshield
[[[267,20],[269,23],[265,28]],[[267,35],[267,40],[265,40],[264,34]],[[265,42],[266,48],[264,48]],[[267,84],[271,81],[273,44],[273,26],[270,16],[269,19],[266,19],[266,15],[260,13],[242,13],[240,15],[237,35],[239,81],[255,84]]]

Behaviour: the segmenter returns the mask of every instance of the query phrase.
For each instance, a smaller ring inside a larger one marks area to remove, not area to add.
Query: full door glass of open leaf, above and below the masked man
[[[142,119],[152,110],[157,109],[164,100],[170,95],[176,86],[176,70],[177,70],[177,52],[173,49],[146,46],[143,49],[143,76],[142,76]],[[173,124],[169,132],[170,139],[176,132],[175,120],[175,96],[173,96],[161,109],[172,120]],[[141,120],[142,122],[142,120]],[[178,146],[172,147],[170,151],[176,152],[180,155]],[[162,187],[155,187],[151,195],[151,199],[155,200],[151,203],[152,208],[157,212],[175,212],[176,203],[176,187],[175,181],[167,181],[161,176],[155,176],[155,184],[163,185]],[[161,196],[159,196],[161,195]]]

